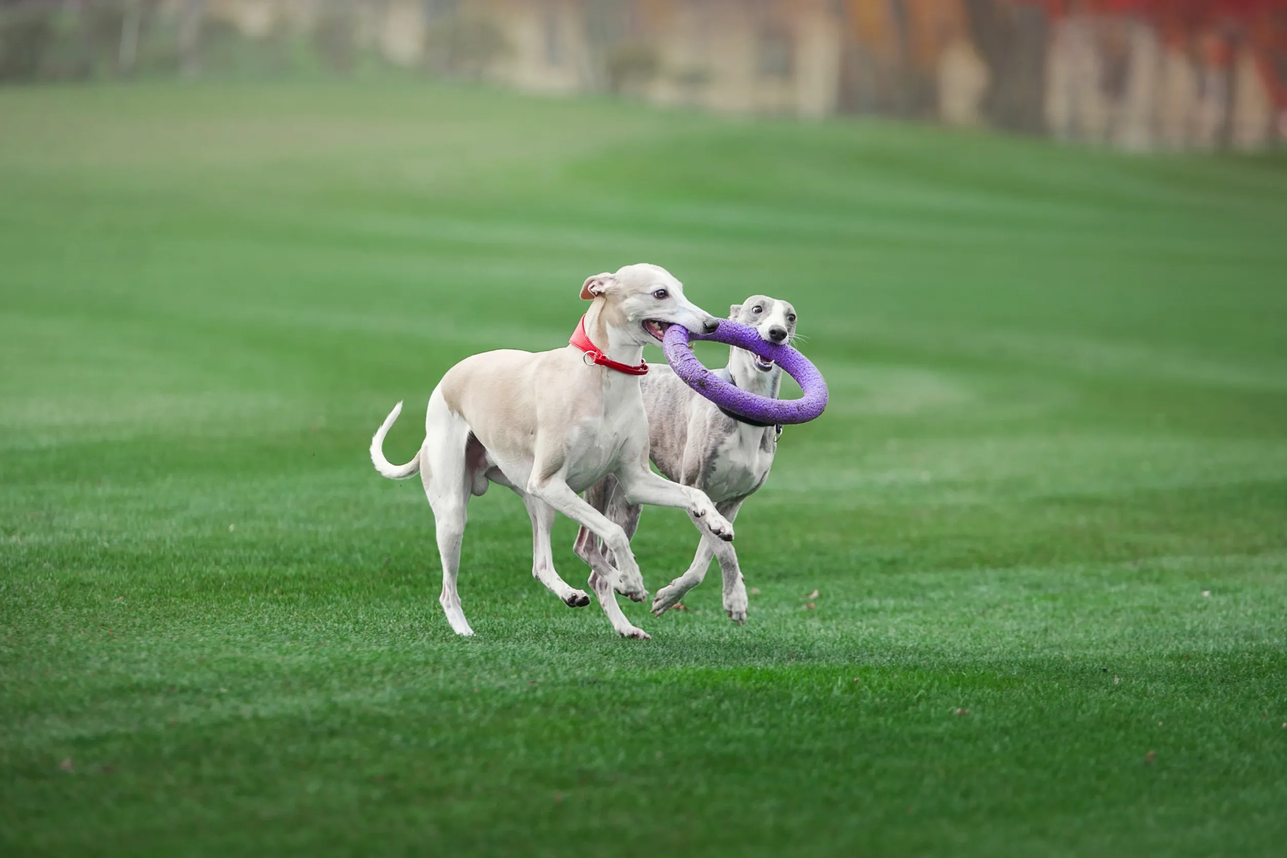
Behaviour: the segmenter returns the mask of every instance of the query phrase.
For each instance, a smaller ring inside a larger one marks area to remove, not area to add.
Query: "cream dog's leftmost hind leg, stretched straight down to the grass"
[[[429,399],[425,417],[425,446],[421,449],[420,477],[425,495],[434,509],[434,529],[438,535],[438,553],[443,561],[443,594],[439,602],[456,634],[474,634],[456,578],[461,566],[461,543],[465,540],[465,522],[474,485],[466,463],[470,427],[447,406],[443,395],[435,390]]]

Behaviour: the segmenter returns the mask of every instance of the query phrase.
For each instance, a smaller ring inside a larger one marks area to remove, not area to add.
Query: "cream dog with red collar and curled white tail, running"
[[[692,333],[714,331],[718,320],[683,297],[683,286],[656,265],[627,265],[596,274],[582,286],[592,301],[584,329],[593,346],[620,364],[641,364],[644,346],[659,343],[665,329],[682,324]],[[732,525],[700,490],[649,470],[649,426],[640,377],[588,363],[575,346],[528,352],[512,349],[466,358],[452,367],[429,397],[425,443],[407,464],[391,464],[384,440],[402,403],[371,441],[371,461],[381,475],[404,480],[420,473],[434,509],[443,560],[439,601],[457,634],[474,634],[456,589],[471,495],[489,482],[512,489],[532,517],[532,574],[566,605],[589,603],[553,567],[550,531],[561,512],[611,551],[616,567],[596,563],[589,585],[618,634],[649,635],[625,619],[615,593],[647,597],[629,538],[620,525],[578,493],[613,475],[628,503],[687,509],[699,530],[732,539]]]

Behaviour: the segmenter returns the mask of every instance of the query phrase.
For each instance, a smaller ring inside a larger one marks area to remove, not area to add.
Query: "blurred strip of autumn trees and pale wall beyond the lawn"
[[[1287,136],[1283,0],[3,0],[0,81],[377,69],[1130,151]]]

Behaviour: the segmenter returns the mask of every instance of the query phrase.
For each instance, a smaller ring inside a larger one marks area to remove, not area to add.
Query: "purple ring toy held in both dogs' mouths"
[[[701,365],[689,346],[690,340],[722,342],[772,360],[799,383],[804,395],[799,399],[770,399],[730,385]],[[714,333],[691,333],[682,324],[672,324],[667,328],[662,350],[674,374],[689,387],[748,422],[761,426],[807,423],[826,408],[826,381],[810,359],[785,343],[766,342],[749,324],[721,319]]]

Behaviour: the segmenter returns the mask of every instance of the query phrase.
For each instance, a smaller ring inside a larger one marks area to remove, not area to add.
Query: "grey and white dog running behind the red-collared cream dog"
[[[753,325],[768,342],[790,342],[795,337],[795,307],[764,295],[753,295],[732,305],[728,318]],[[781,427],[757,426],[732,417],[683,383],[667,364],[650,364],[649,369],[642,390],[653,464],[674,482],[704,491],[719,515],[735,521],[741,503],[768,479]],[[728,365],[716,374],[743,390],[773,399],[782,382],[782,370],[773,361],[736,347],[728,349]],[[625,499],[614,476],[591,486],[586,500],[633,538],[641,507]],[[694,524],[699,525],[696,518]],[[614,578],[611,551],[588,529],[582,527],[577,534],[575,551],[595,572]],[[701,536],[689,571],[658,592],[653,614],[660,616],[700,584],[712,557],[719,560],[723,572],[725,611],[735,623],[745,623],[746,585],[737,566],[737,552],[732,543],[707,535]]]

